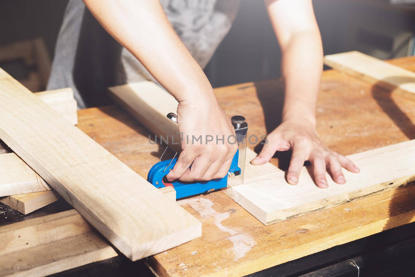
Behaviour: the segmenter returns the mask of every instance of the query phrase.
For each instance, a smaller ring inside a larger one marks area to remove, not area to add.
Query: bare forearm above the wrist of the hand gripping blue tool
[[[84,0],[100,24],[179,102],[214,98],[158,0]]]

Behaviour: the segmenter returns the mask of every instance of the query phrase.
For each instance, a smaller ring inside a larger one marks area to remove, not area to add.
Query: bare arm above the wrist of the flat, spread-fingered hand
[[[323,50],[312,2],[265,0],[265,5],[282,52],[283,120],[306,118],[315,125]]]

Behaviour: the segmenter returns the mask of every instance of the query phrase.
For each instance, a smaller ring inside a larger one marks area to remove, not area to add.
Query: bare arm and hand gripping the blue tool
[[[234,134],[203,70],[174,32],[158,0],[84,2],[105,30],[179,102],[178,125],[184,137]],[[226,140],[217,145],[204,139],[203,144],[186,144],[185,139],[178,162],[167,178],[193,181],[223,177],[236,147]]]

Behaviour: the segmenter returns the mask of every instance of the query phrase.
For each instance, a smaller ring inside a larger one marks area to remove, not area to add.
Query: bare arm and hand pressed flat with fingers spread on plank
[[[276,151],[293,150],[287,181],[297,184],[304,161],[313,165],[317,186],[327,188],[326,166],[344,184],[342,167],[359,172],[344,156],[330,151],[315,131],[315,110],[323,66],[320,31],[311,0],[265,0],[282,52],[285,101],[282,123],[268,135],[253,164],[268,162]]]

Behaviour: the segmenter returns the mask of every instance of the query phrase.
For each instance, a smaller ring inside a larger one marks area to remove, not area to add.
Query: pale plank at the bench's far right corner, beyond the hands
[[[324,57],[324,63],[341,73],[415,100],[414,72],[359,51],[327,55]]]

